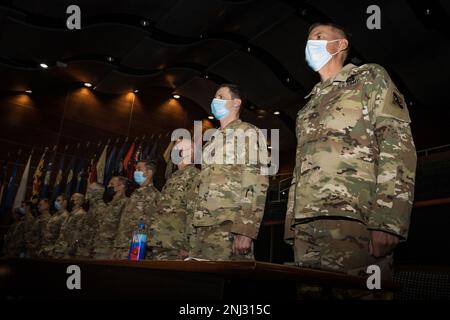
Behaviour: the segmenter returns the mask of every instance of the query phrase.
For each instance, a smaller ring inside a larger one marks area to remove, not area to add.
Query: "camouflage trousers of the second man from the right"
[[[225,221],[219,225],[193,227],[189,237],[189,256],[213,261],[252,261],[253,244],[245,255],[233,254],[234,235],[230,232],[233,223]]]

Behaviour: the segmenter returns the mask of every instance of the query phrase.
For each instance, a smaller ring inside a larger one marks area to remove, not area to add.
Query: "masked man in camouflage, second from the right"
[[[193,258],[254,259],[253,240],[268,187],[268,177],[261,174],[261,162],[267,164],[262,158],[267,157],[267,144],[257,127],[239,119],[243,102],[239,87],[227,84],[219,88],[211,104],[221,127],[203,148],[189,237]]]

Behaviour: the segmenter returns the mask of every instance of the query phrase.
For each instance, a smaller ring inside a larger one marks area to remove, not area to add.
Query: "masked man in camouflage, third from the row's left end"
[[[59,195],[55,200],[56,212],[48,221],[44,228],[42,246],[39,256],[43,258],[53,258],[56,241],[59,238],[61,227],[69,218],[67,211],[67,197],[64,194]]]

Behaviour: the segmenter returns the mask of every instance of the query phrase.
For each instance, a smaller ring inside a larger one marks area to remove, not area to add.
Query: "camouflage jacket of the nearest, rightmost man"
[[[318,83],[297,116],[285,239],[317,217],[359,220],[406,239],[417,156],[403,96],[376,64]]]

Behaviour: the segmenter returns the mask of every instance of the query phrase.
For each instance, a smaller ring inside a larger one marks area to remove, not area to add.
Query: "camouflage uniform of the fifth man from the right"
[[[113,200],[107,204],[103,202],[103,199],[98,200],[100,203],[96,204],[98,206],[96,211],[99,225],[94,240],[94,259],[114,259],[114,242],[127,200],[125,195],[114,196]]]

